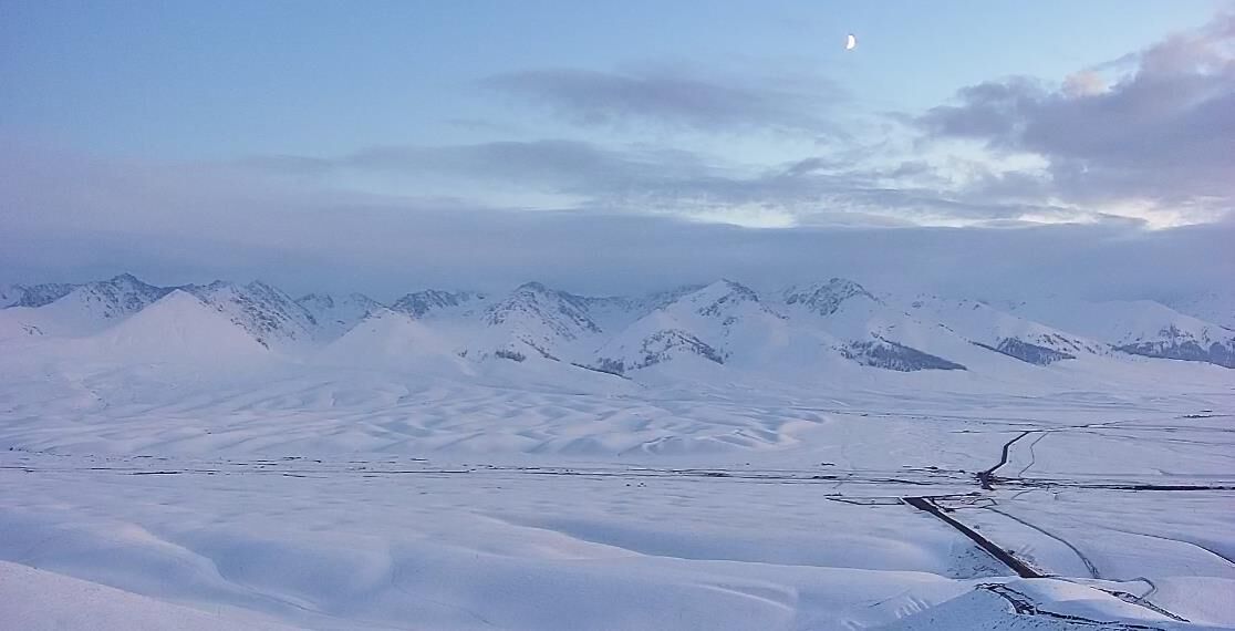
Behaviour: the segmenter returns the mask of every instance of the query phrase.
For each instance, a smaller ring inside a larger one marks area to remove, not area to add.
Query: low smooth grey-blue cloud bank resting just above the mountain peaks
[[[306,190],[216,165],[0,151],[0,167],[11,175],[0,178],[0,282],[128,270],[159,283],[262,278],[291,291],[389,299],[424,286],[504,289],[527,279],[622,293],[718,277],[778,286],[842,275],[877,290],[995,299],[1212,290],[1235,275],[1230,222],[1162,231],[1118,221],[753,230]]]

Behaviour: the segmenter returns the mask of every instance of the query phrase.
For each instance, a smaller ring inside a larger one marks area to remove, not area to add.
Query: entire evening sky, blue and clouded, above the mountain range
[[[1230,1],[0,0],[0,282],[1153,295],[1233,200]]]

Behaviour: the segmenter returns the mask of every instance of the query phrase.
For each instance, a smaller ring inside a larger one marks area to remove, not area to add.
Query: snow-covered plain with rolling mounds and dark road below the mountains
[[[4,343],[0,627],[1235,629],[1226,368],[287,357],[185,300]]]

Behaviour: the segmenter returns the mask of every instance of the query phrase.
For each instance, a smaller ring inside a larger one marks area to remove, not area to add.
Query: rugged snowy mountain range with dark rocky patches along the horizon
[[[293,298],[261,282],[156,286],[121,274],[0,286],[0,349],[59,345],[62,353],[106,352],[114,361],[210,356],[222,364],[230,353],[264,354],[464,373],[490,362],[547,362],[636,380],[999,375],[1172,366],[1167,359],[1235,369],[1235,315],[1225,312],[1233,301],[1212,293],[1172,304],[1191,312],[1151,300],[898,298],[840,278],[762,291],[721,279],[635,296],[584,296],[532,282],[496,294],[427,289],[383,304],[358,293]]]

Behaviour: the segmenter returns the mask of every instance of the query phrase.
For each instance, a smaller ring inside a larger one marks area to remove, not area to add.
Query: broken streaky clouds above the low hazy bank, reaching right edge
[[[844,133],[834,130],[845,96],[809,73],[505,73],[482,83],[584,127],[655,131],[645,140],[656,144],[613,144],[584,130],[582,141],[369,147],[248,165],[482,205],[762,227],[1207,222],[1235,200],[1233,23],[1219,17],[1057,84],[1013,77],[918,115],[851,115]],[[666,128],[692,133],[658,133]],[[762,163],[741,162],[748,156]]]

